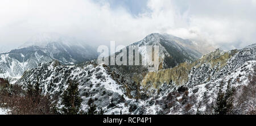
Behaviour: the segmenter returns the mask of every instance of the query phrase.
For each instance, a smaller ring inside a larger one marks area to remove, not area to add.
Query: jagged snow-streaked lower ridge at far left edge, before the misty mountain
[[[27,69],[36,68],[40,63],[52,60],[40,50],[23,48],[0,54],[0,77],[21,77]]]

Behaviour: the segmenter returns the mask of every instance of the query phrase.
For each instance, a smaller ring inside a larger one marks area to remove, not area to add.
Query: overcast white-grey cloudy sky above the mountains
[[[36,33],[128,45],[152,32],[223,49],[256,43],[256,0],[1,0],[0,50]]]

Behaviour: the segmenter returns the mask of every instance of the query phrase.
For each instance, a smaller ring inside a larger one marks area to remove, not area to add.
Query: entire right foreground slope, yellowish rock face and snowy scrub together
[[[225,106],[229,108],[225,114],[254,112],[255,108],[251,109],[251,106],[254,106],[256,100],[250,94],[253,93],[255,84],[249,81],[256,78],[255,60],[255,46],[229,52],[217,50],[191,64],[191,70],[181,70],[187,73],[185,79],[182,77],[183,83],[175,81],[181,77],[176,74],[176,70],[166,70],[166,73],[170,72],[170,76],[167,75],[169,78],[165,76],[164,70],[148,73],[142,85],[152,85],[151,88],[144,89],[154,99],[155,106],[152,108],[146,105],[146,110],[155,110],[153,114],[218,114],[221,110],[220,101],[224,101],[230,105]],[[186,65],[185,68],[190,68],[191,65]],[[170,79],[175,75],[175,79]]]

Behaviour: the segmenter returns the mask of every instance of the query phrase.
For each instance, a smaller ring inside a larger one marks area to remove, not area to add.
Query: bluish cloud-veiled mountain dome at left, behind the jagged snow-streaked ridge
[[[65,65],[94,60],[98,56],[96,49],[84,44],[82,41],[73,37],[58,35],[57,33],[39,33],[31,37],[20,48],[43,51]]]

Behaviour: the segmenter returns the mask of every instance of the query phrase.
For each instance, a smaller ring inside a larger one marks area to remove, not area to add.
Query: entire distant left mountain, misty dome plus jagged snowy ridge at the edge
[[[97,56],[96,49],[82,45],[76,39],[43,33],[33,36],[18,49],[0,54],[0,77],[21,77],[25,70],[52,60],[73,65]]]

